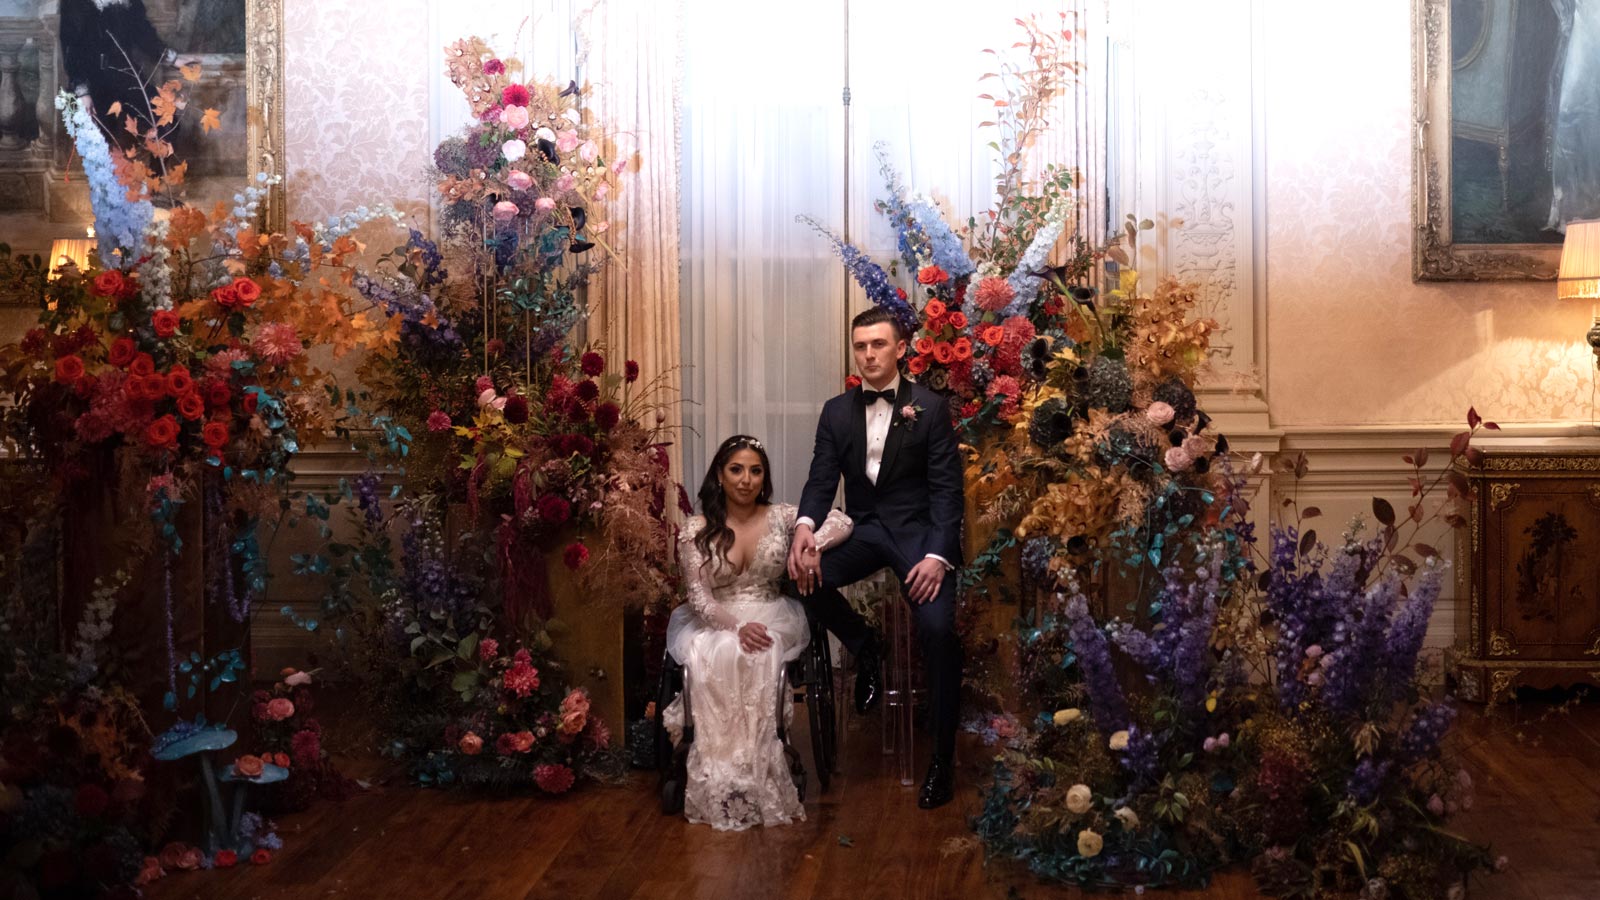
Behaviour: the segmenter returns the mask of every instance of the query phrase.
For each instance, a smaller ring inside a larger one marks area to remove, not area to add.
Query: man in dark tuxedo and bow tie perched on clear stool
[[[882,307],[851,322],[850,344],[862,384],[822,407],[811,474],[789,548],[789,577],[808,605],[856,655],[856,709],[878,698],[877,637],[838,593],[893,569],[914,607],[933,713],[933,762],[917,806],[950,802],[962,695],[955,633],[955,573],[962,562],[962,460],[946,399],[899,375],[906,336]],[[845,477],[845,511],[856,528],[818,556],[813,528]],[[811,594],[816,596],[811,596]]]

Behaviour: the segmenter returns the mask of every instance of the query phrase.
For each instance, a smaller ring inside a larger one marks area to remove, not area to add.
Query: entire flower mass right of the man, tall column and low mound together
[[[909,372],[952,397],[989,533],[963,617],[1018,570],[1040,597],[1011,637],[1018,671],[984,673],[1038,713],[982,722],[1002,753],[974,828],[992,854],[1085,887],[1200,886],[1248,862],[1274,895],[1454,897],[1491,862],[1443,830],[1470,777],[1445,751],[1453,706],[1418,673],[1442,578],[1402,533],[1432,520],[1421,463],[1406,519],[1374,501],[1378,533],[1357,524],[1334,546],[1277,527],[1258,562],[1246,484],[1261,461],[1237,471],[1195,397],[1216,323],[1192,287],[1146,293],[1126,267],[1152,224],[1130,218],[1126,248],[1074,239],[1066,264],[1046,263],[1078,186],[1046,168],[1030,189],[1013,170],[1070,75],[1070,35],[1022,27],[1030,58],[1002,69],[995,98],[1014,143],[992,227],[950,227],[885,163],[878,210],[912,291],[829,234],[915,335]],[[1102,261],[1107,291],[1090,285]],[[1453,516],[1467,487],[1437,484]]]

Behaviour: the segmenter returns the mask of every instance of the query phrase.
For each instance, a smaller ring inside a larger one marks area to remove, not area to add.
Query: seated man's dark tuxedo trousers
[[[904,596],[906,577],[918,562],[922,560],[906,559],[882,524],[859,522],[850,540],[822,552],[822,585],[803,601],[851,653],[859,653],[866,645],[869,628],[838,589],[880,569],[891,569],[901,581]],[[928,684],[933,749],[946,761],[955,754],[955,729],[960,724],[962,708],[962,637],[955,633],[955,581],[957,573],[946,572],[939,593],[926,604],[910,607]],[[906,602],[910,604],[910,599]]]

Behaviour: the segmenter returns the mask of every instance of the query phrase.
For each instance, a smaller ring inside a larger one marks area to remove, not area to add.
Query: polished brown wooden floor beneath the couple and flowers
[[[1544,701],[1464,717],[1477,806],[1459,830],[1493,841],[1507,873],[1470,897],[1600,898],[1600,703]],[[797,721],[803,716],[797,716]],[[803,735],[802,735],[803,737]],[[485,798],[395,781],[322,802],[280,825],[266,866],[170,876],[154,900],[315,897],[512,898],[1034,898],[1078,897],[1011,863],[986,865],[965,820],[978,809],[984,748],[963,745],[957,802],[918,810],[878,753],[877,719],[853,721],[843,773],[811,796],[806,822],[723,834],[656,809],[654,778],[566,798]],[[802,745],[805,746],[805,745]],[[810,762],[810,754],[806,754]],[[920,777],[920,772],[918,772]],[[1246,873],[1171,898],[1256,898]]]

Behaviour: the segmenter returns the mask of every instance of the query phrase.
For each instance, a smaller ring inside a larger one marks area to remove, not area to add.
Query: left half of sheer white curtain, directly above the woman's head
[[[794,503],[843,378],[840,269],[795,223],[842,218],[843,3],[688,0],[683,35],[685,482],[754,434]]]

